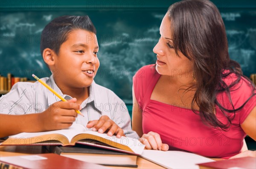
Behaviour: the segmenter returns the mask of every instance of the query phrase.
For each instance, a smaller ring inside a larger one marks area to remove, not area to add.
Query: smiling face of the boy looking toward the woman
[[[99,68],[96,34],[75,29],[61,44],[55,57],[53,74],[59,87],[84,88],[91,85]]]

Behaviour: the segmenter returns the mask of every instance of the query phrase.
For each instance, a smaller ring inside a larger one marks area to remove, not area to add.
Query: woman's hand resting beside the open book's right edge
[[[169,150],[168,144],[162,143],[161,137],[156,132],[148,132],[148,134],[143,134],[140,138],[140,142],[145,144],[145,149],[154,150]]]

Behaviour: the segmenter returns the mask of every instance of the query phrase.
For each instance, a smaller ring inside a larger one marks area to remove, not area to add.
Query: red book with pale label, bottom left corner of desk
[[[36,155],[18,155],[0,158],[0,169],[104,169],[94,163],[88,163],[53,153]]]

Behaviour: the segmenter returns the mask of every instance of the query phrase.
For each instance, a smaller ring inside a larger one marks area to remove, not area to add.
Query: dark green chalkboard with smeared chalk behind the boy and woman
[[[55,8],[52,7],[54,2]],[[2,4],[0,74],[6,76],[10,72],[30,79],[32,73],[49,77],[50,72],[40,54],[42,29],[61,15],[89,15],[97,29],[100,46],[100,68],[95,81],[113,90],[125,103],[131,103],[132,77],[140,67],[155,63],[156,54],[152,49],[159,39],[159,26],[168,6],[174,1],[162,5],[158,1],[149,1],[148,6],[146,1],[134,1],[137,6],[127,8],[121,6],[126,4],[125,1],[114,7],[104,6],[104,1],[93,6],[93,2],[83,8],[76,4],[79,2],[69,4],[65,1],[61,6],[60,1],[51,1],[51,9],[44,6],[40,10],[35,6],[29,8],[21,4],[20,9],[15,9],[15,4]],[[241,64],[245,75],[250,76],[256,73],[255,5],[250,5],[252,1],[248,1],[247,6],[244,5],[246,1],[238,5],[230,2],[219,8],[226,26],[230,57]]]

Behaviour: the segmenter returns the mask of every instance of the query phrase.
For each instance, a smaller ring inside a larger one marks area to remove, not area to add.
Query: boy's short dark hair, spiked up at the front
[[[96,34],[96,29],[87,15],[56,17],[45,26],[41,34],[41,54],[43,55],[44,49],[49,48],[58,55],[61,44],[74,29],[84,29]]]

